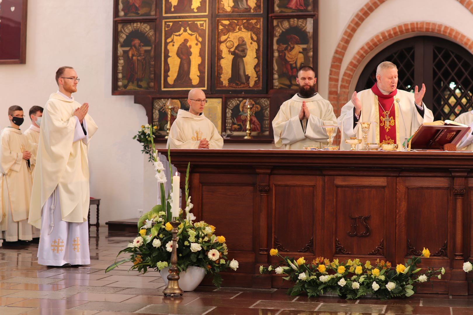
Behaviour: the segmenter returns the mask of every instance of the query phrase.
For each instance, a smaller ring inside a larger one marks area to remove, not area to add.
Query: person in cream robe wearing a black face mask
[[[19,129],[24,121],[23,109],[11,106],[8,114],[10,127],[0,135],[0,234],[5,246],[16,246],[32,240],[32,227],[27,222],[32,187],[27,162],[35,148]]]

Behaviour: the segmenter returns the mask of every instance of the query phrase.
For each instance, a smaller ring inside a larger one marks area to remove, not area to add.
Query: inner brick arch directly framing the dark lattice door
[[[339,102],[337,103],[339,106],[337,109],[341,108],[345,102],[348,102],[349,88],[353,75],[369,52],[376,50],[376,48],[385,41],[416,32],[421,32],[422,34],[435,34],[437,36],[440,35],[444,38],[448,38],[449,40],[460,44],[473,54],[473,40],[453,27],[436,22],[410,22],[393,26],[371,37],[371,39],[369,39],[368,42],[366,42],[350,60],[342,76],[342,84],[340,85],[340,92],[338,94]]]

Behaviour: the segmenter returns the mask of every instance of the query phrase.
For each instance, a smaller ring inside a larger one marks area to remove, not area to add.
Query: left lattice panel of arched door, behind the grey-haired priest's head
[[[407,47],[395,51],[383,60],[394,63],[398,70],[399,80],[397,88],[409,92],[414,92],[414,47]],[[376,82],[376,68],[368,76],[363,89],[370,89]]]

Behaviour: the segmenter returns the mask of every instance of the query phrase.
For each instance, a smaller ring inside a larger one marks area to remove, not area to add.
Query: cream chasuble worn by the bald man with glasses
[[[166,147],[171,149],[198,149],[200,140],[209,141],[209,149],[221,149],[223,138],[215,125],[204,116],[194,115],[188,111],[177,111]]]

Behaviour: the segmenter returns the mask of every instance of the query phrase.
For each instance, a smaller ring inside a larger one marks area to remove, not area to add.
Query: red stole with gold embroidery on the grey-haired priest
[[[379,91],[378,85],[375,83],[375,85],[371,87],[371,91],[373,91],[378,99],[377,106],[379,109],[379,143],[395,144],[396,110],[394,107],[394,96],[397,94],[397,89],[385,95]]]

